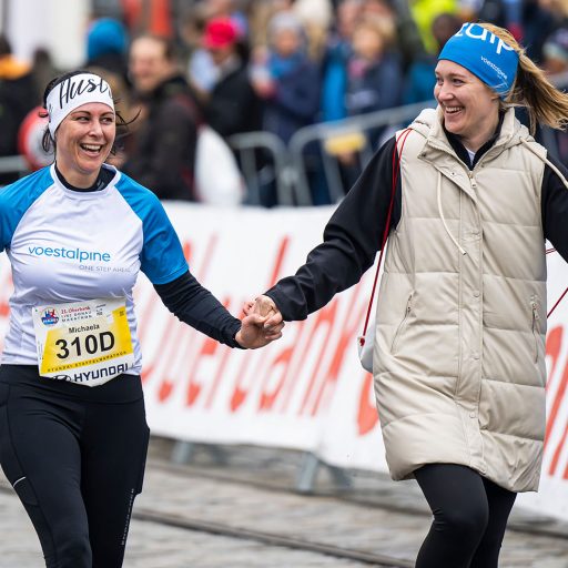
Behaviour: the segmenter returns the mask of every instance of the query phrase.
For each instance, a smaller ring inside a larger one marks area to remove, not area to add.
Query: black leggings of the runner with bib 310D
[[[149,429],[140,377],[97,387],[0,367],[0,465],[48,568],[119,568]]]

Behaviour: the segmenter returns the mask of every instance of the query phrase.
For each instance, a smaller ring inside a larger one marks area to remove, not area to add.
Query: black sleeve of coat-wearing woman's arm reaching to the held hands
[[[294,276],[282,278],[266,292],[284,320],[305,320],[337,292],[356,284],[373,265],[393,192],[394,144],[393,138],[373,156],[332,215],[323,243],[307,255],[306,263]],[[400,199],[398,176],[390,227],[400,220]]]

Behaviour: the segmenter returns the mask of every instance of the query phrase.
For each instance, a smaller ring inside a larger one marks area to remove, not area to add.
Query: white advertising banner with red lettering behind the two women
[[[190,267],[235,315],[243,302],[293,274],[321,242],[332,207],[256,210],[168,204]],[[0,334],[8,322],[10,271],[0,267]],[[145,277],[135,290],[143,382],[154,434],[313,452],[329,464],[386,470],[373,381],[359,365],[374,271],[282,339],[231,349],[180,323]],[[549,306],[568,285],[549,255]],[[541,487],[519,503],[568,518],[568,296],[548,322],[548,423]]]

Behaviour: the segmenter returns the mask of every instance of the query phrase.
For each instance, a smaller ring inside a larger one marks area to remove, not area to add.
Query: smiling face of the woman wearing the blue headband
[[[467,149],[479,150],[495,133],[499,97],[464,67],[438,61],[434,97],[444,111],[446,130],[458,135]]]

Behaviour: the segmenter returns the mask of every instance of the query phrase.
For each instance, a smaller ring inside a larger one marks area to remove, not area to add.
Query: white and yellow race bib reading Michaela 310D
[[[32,310],[40,375],[97,386],[134,363],[125,298],[102,298]]]

